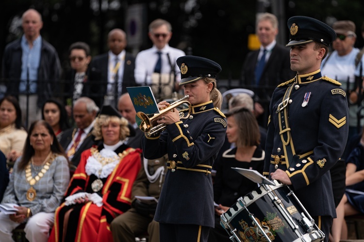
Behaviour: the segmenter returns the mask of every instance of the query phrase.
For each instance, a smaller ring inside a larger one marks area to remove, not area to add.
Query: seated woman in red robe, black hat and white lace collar
[[[101,142],[81,154],[49,242],[113,241],[110,223],[131,208],[141,151],[124,144],[128,121],[114,107],[103,106],[92,132]]]

